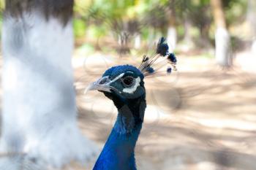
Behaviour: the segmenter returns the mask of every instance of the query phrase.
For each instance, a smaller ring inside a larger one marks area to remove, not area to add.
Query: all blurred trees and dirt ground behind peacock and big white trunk
[[[256,169],[255,0],[76,0],[73,28],[79,124],[99,148],[116,109],[84,88],[165,36],[178,72],[146,80],[138,169]]]

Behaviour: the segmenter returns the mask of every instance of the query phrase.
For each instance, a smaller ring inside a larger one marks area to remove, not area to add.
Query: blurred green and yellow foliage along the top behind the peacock
[[[227,26],[235,26],[246,19],[247,0],[222,0]],[[0,0],[0,27],[4,0]],[[140,34],[143,41],[166,35],[170,16],[175,17],[178,38],[185,34],[185,22],[192,27],[193,37],[214,38],[210,0],[75,0],[74,33],[76,38],[99,38],[121,35],[127,31],[128,41]]]

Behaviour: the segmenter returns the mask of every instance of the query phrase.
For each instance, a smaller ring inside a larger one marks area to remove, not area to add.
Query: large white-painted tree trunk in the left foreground
[[[6,0],[0,169],[60,168],[94,153],[77,125],[72,5]]]

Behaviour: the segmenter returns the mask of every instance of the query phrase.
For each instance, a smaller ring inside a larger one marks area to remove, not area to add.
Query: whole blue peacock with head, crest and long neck
[[[146,109],[144,78],[162,74],[159,70],[169,65],[164,74],[176,70],[176,56],[168,53],[165,38],[159,39],[156,54],[143,56],[137,68],[131,65],[113,66],[87,90],[99,90],[113,101],[118,110],[116,123],[93,170],[135,170],[135,145],[143,125]]]

